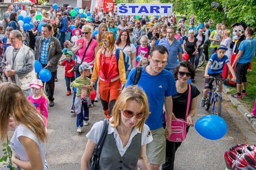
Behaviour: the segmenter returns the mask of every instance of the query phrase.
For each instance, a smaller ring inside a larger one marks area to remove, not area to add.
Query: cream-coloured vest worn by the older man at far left
[[[17,53],[17,56],[13,63],[13,46],[9,46],[6,48],[5,56],[6,61],[8,61],[8,64],[12,66],[14,70],[20,69],[25,67],[25,55],[28,53],[28,50],[30,48],[24,44],[22,44],[22,47],[19,49],[19,52]],[[33,79],[36,79],[35,70],[33,69],[32,72],[28,73],[25,77],[19,78],[17,74],[15,74],[15,81],[16,84],[24,91],[29,89],[29,84]]]

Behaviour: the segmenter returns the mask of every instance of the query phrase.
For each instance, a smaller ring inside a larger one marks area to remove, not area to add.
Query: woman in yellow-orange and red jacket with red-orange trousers
[[[104,114],[110,118],[113,106],[126,83],[125,65],[122,50],[116,59],[116,46],[113,32],[102,34],[102,48],[95,58],[90,86],[94,86],[99,76],[99,94]]]

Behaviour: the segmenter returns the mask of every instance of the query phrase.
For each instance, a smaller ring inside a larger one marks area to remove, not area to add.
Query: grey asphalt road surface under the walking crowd
[[[66,96],[64,71],[64,67],[58,68],[59,81],[55,83],[55,106],[48,107],[49,140],[46,146],[46,159],[52,170],[78,170],[87,142],[85,135],[95,122],[104,119],[104,114],[101,103],[95,103],[94,107],[89,109],[89,125],[83,127],[81,134],[76,133],[76,116],[70,113],[73,95]],[[204,85],[203,73],[204,71],[199,69],[195,79],[195,84],[201,92],[195,120],[209,114],[199,106]],[[174,169],[224,170],[226,168],[224,152],[229,147],[246,141],[224,109],[222,117],[228,124],[228,132],[222,139],[208,140],[201,137],[194,127],[189,129],[186,140],[176,152]]]

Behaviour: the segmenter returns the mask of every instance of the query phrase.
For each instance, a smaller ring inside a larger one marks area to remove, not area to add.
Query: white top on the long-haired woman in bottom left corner
[[[10,141],[10,146],[12,150],[15,152],[15,154],[19,157],[20,160],[23,161],[29,161],[28,156],[26,154],[26,151],[23,147],[23,145],[19,141],[20,136],[25,136],[37,143],[38,149],[40,152],[40,156],[42,159],[42,164],[44,165],[45,160],[45,142],[42,142],[40,139],[38,139],[35,134],[29,130],[25,125],[19,124],[17,125],[14,134],[12,136],[12,139]]]

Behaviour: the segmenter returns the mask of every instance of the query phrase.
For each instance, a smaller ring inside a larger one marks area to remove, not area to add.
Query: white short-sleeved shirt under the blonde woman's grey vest
[[[135,135],[137,135],[138,133],[141,133],[141,132],[139,131],[139,129],[134,127],[132,132],[131,132],[131,136],[129,138],[129,141],[128,141],[127,145],[124,147],[123,143],[122,143],[122,140],[120,139],[116,128],[113,128],[112,126],[113,126],[113,124],[109,123],[108,134],[114,133],[116,146],[118,148],[118,151],[119,151],[120,155],[123,156],[125,154],[125,152],[127,151],[127,149],[129,148],[129,146],[131,144],[131,141],[132,141],[132,138]],[[86,137],[88,139],[90,139],[91,141],[93,141],[94,143],[98,144],[98,142],[100,140],[102,129],[103,129],[103,121],[96,122],[93,125],[93,127],[91,127],[91,130],[88,132]],[[153,137],[152,137],[151,131],[150,131],[149,127],[146,124],[144,124],[142,134],[141,134],[141,145],[142,146],[146,145],[146,144],[150,143],[152,140],[153,140]]]

